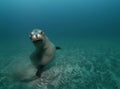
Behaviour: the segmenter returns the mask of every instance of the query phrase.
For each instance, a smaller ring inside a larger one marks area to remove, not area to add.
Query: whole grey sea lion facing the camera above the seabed
[[[37,68],[36,76],[40,77],[42,69],[53,59],[56,49],[60,47],[56,47],[41,29],[34,29],[29,37],[36,48],[30,59]]]

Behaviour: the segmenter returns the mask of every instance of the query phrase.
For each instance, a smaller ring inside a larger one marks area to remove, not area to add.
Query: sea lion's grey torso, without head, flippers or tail
[[[39,45],[39,43],[36,43]],[[45,43],[39,48],[37,47],[35,51],[31,54],[30,59],[34,66],[46,65],[51,59],[54,57],[56,48],[53,43],[49,41],[49,39],[45,38]]]

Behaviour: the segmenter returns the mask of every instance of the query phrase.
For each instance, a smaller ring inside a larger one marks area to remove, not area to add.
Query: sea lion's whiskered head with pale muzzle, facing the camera
[[[34,29],[29,37],[34,43],[42,42],[44,40],[44,32],[40,29]]]

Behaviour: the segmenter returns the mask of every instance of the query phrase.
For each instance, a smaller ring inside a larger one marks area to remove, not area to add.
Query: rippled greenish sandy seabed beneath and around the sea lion
[[[58,42],[61,50],[41,78],[23,82],[36,72],[33,48],[1,48],[0,89],[120,89],[120,46],[117,43]],[[12,52],[10,51],[12,50]]]

